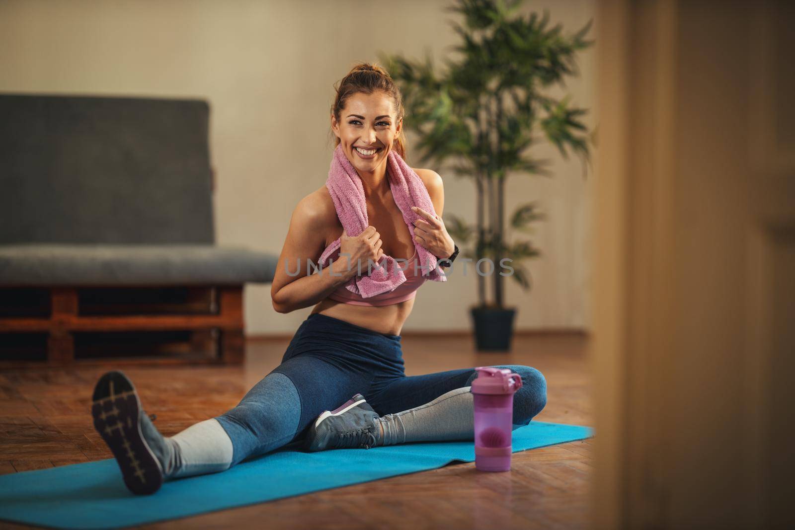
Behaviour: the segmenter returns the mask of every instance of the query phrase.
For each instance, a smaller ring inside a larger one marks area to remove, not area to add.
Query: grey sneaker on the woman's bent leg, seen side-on
[[[304,449],[314,452],[375,447],[381,435],[378,417],[378,413],[364,400],[364,396],[356,394],[338,408],[317,416],[309,426]]]

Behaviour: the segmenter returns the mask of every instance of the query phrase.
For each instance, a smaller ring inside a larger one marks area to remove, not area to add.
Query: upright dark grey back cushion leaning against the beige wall
[[[215,242],[202,100],[0,94],[0,244]]]

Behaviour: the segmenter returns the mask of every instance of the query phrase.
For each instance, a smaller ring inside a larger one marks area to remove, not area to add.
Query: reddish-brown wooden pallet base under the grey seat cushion
[[[18,334],[46,335],[48,366],[68,365],[76,361],[76,334],[87,335],[118,332],[188,333],[186,347],[191,351],[215,352],[212,358],[186,355],[184,362],[221,362],[239,365],[245,358],[243,323],[243,286],[199,286],[181,288],[179,303],[157,304],[142,301],[141,292],[156,292],[157,286],[147,288],[48,288],[46,308],[40,301],[14,306],[14,289],[2,288],[0,296],[0,350],[2,338]],[[170,288],[180,289],[180,288]],[[138,295],[138,296],[134,296]],[[115,296],[115,298],[114,298]],[[4,300],[5,299],[5,300]],[[126,300],[129,299],[129,300]],[[8,339],[6,339],[7,341]],[[101,361],[93,357],[92,361]],[[153,362],[178,362],[174,358],[152,358]],[[25,358],[0,358],[0,367],[24,366]],[[114,362],[123,362],[114,358]],[[134,359],[141,362],[142,359]],[[81,359],[82,362],[82,359]],[[41,362],[37,363],[41,364]]]

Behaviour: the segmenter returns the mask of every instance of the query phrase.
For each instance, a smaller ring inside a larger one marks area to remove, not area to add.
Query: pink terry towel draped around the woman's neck
[[[403,220],[409,226],[414,248],[417,249],[417,257],[414,259],[418,259],[418,266],[421,267],[423,275],[430,280],[447,281],[447,277],[436,265],[438,258],[425,249],[424,246],[414,242],[413,222],[415,219],[422,219],[422,216],[414,213],[411,207],[421,207],[425,211],[436,214],[431,202],[431,196],[428,195],[428,190],[425,189],[425,184],[422,183],[420,176],[412,168],[409,168],[409,164],[406,164],[403,158],[395,153],[394,149],[387,156],[386,164],[386,177],[390,183],[392,197],[403,213]],[[364,188],[359,173],[356,172],[351,161],[343,153],[342,144],[337,145],[336,149],[334,149],[332,165],[328,168],[326,188],[328,188],[328,193],[332,195],[337,217],[339,217],[339,222],[342,223],[345,233],[348,236],[361,234],[370,224],[367,221]],[[326,247],[326,250],[320,254],[320,265],[324,267],[329,265],[332,258],[336,261],[339,258],[339,246],[341,244],[342,238],[337,238],[335,242]],[[347,257],[343,256],[341,259],[347,263]],[[405,274],[395,265],[398,265],[397,261],[384,253],[381,260],[378,261],[378,267],[373,264],[370,275],[367,275],[367,264],[363,263],[362,275],[348,280],[345,288],[363,298],[370,298],[370,296],[380,295],[382,292],[389,292],[405,281]],[[351,263],[351,267],[356,267],[356,264]],[[401,268],[406,268],[404,262],[401,262]],[[383,269],[386,269],[386,271]]]

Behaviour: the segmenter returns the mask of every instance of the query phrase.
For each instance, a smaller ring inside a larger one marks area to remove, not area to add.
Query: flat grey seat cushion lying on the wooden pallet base
[[[0,285],[270,282],[278,256],[213,245],[0,245]]]

